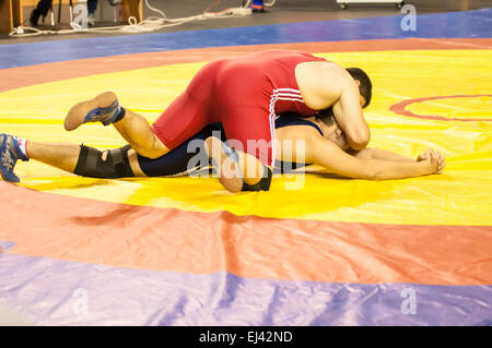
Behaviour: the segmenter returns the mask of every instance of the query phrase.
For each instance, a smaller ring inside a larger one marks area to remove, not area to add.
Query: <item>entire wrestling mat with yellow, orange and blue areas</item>
[[[368,72],[370,146],[447,157],[440,176],[279,176],[235,195],[20,163],[21,183],[0,182],[0,304],[39,325],[491,325],[491,16],[0,46],[0,132],[33,141],[121,146],[110,127],[66,132],[65,115],[112,89],[153,121],[211,59],[288,48]]]

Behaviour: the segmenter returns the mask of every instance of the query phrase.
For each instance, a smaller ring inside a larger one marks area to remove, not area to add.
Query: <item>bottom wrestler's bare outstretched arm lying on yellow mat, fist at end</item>
[[[440,173],[444,168],[444,157],[436,152],[427,151],[419,156],[420,160],[395,160],[396,154],[389,152],[367,151],[359,156],[352,156],[343,152],[333,142],[316,136],[306,142],[306,161],[320,165],[330,172],[354,179],[386,180],[420,177]],[[371,154],[371,156],[368,156]],[[426,154],[426,155],[425,155]],[[384,156],[388,159],[372,157]],[[398,155],[397,155],[398,156]]]

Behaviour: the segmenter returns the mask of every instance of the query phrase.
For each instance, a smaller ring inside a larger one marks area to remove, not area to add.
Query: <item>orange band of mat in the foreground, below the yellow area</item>
[[[9,226],[0,240],[16,242],[9,250],[15,254],[262,279],[492,284],[487,226],[277,219],[93,201],[8,183],[0,190],[0,218]]]

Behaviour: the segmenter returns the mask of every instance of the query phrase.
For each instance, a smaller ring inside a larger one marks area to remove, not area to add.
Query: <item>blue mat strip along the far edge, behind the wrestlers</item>
[[[419,15],[415,32],[403,32],[400,25],[402,19],[401,14],[359,20],[2,45],[0,69],[187,48],[409,37],[492,37],[492,9]]]

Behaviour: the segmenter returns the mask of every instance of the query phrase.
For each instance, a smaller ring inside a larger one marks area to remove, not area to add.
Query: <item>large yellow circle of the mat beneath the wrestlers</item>
[[[31,160],[16,167],[21,184],[78,197],[199,212],[353,223],[491,225],[492,122],[414,119],[389,110],[391,105],[412,98],[491,94],[490,50],[319,56],[344,67],[361,67],[371,75],[374,96],[365,110],[372,129],[370,146],[413,158],[434,147],[447,156],[444,173],[390,181],[343,180],[321,173],[283,176],[274,178],[269,192],[233,195],[215,179],[97,180]],[[68,109],[95,93],[113,89],[124,106],[153,121],[201,67],[165,65],[8,91],[0,94],[1,132],[37,142],[120,146],[125,142],[110,127],[84,124],[65,132],[61,124]],[[430,103],[412,108],[418,113],[436,112],[436,106]],[[490,103],[480,98],[446,100],[445,108],[470,118],[490,118],[492,113]]]

